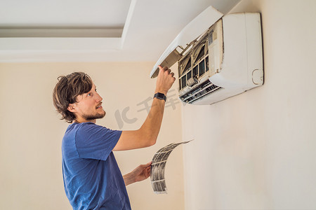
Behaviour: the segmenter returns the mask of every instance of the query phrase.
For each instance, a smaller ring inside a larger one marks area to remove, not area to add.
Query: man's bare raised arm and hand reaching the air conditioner
[[[154,93],[160,92],[166,95],[176,80],[176,78],[173,76],[174,73],[172,73],[171,70],[166,66],[164,68],[159,66],[159,74],[157,77],[156,90]],[[150,113],[148,114],[140,129],[133,131],[123,131],[113,151],[126,151],[154,145],[162,125],[164,105],[164,99],[154,98],[150,108]]]

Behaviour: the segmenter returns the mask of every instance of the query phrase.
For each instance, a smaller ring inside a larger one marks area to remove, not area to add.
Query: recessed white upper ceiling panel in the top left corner
[[[0,27],[124,27],[130,4],[131,0],[3,1]]]

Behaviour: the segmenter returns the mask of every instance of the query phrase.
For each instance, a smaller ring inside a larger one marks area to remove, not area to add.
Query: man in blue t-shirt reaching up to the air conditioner
[[[74,72],[58,78],[53,103],[62,120],[71,123],[62,139],[62,175],[73,209],[131,209],[126,186],[147,179],[151,162],[121,176],[112,151],[156,143],[173,76],[170,69],[159,66],[150,113],[140,129],[133,131],[96,125],[96,119],[105,116],[103,98],[86,73]]]

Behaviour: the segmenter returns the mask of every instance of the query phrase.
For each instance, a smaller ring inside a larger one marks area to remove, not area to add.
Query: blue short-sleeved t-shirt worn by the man
[[[73,209],[131,209],[112,149],[121,131],[73,123],[62,139],[62,175]]]

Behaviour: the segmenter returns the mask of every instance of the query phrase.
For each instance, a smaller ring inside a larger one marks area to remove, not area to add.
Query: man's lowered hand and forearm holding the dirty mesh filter
[[[152,165],[152,162],[148,162],[145,165],[139,165],[136,169],[133,169],[133,172],[124,175],[123,179],[125,186],[147,179],[150,176],[150,165]]]

